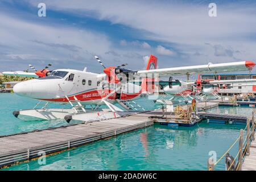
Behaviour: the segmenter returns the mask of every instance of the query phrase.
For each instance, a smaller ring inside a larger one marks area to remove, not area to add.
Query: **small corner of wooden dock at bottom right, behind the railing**
[[[251,141],[250,155],[245,157],[242,171],[256,171],[256,140]]]

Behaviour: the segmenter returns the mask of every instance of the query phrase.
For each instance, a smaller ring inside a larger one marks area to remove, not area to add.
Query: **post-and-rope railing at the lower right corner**
[[[246,131],[246,136],[245,136],[246,138],[243,141],[243,135],[245,131]],[[216,163],[213,163],[212,158],[208,159],[208,171],[213,171],[214,168],[216,168],[217,164],[219,164],[221,160],[224,159],[224,157],[229,153],[230,150],[232,150],[232,148],[234,148],[235,144],[238,141],[239,141],[238,152],[236,154],[236,157],[233,159],[233,162],[230,164],[229,167],[226,168],[226,171],[241,171],[245,156],[250,155],[250,143],[252,140],[255,140],[254,134],[255,134],[255,121],[254,121],[254,111],[253,111],[252,117],[251,117],[251,127],[250,127],[250,118],[247,118],[247,124],[245,129],[240,130],[239,137],[228,148],[228,150],[221,156],[221,158],[218,159]],[[236,164],[236,160],[238,160],[237,164]]]

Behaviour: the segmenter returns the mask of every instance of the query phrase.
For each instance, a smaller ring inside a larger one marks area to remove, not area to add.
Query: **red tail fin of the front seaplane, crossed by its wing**
[[[148,59],[147,62],[147,67],[146,70],[149,69],[156,69],[158,65],[158,58],[155,57],[154,55],[150,55],[150,58]],[[155,79],[154,78],[142,78],[142,93],[154,93],[155,90]]]

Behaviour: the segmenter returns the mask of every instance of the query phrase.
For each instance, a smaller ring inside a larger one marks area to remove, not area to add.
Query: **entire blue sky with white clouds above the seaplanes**
[[[133,70],[151,54],[158,68],[256,61],[255,1],[0,0],[0,17],[0,72],[51,63],[101,73],[94,55]]]

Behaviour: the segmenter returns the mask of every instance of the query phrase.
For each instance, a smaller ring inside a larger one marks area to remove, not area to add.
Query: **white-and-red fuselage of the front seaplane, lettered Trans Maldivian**
[[[19,96],[51,102],[68,102],[74,96],[83,105],[104,105],[102,98],[109,102],[138,98],[141,86],[131,82],[113,84],[107,81],[105,73],[97,74],[75,69],[56,69],[50,76],[23,81],[14,86]],[[121,87],[121,89],[117,89]],[[67,98],[67,97],[68,98]]]

